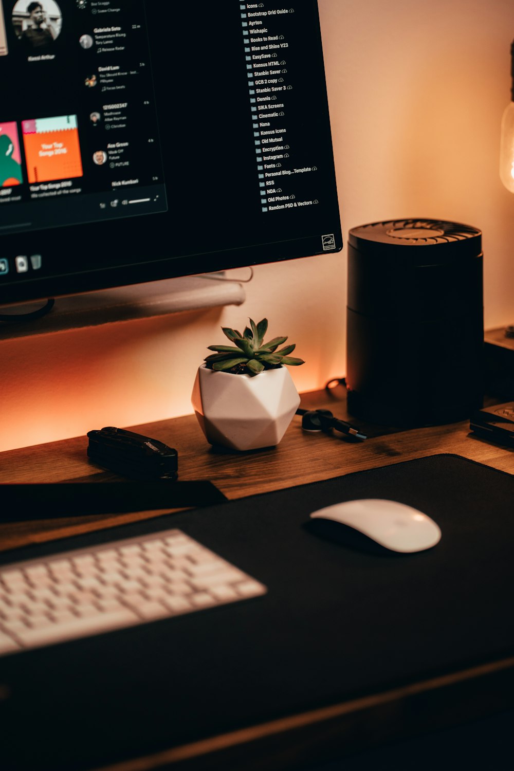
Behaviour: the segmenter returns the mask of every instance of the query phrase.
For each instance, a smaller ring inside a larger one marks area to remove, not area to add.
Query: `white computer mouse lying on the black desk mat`
[[[313,511],[311,518],[341,522],[391,551],[423,551],[441,540],[441,530],[434,520],[395,500],[347,500]]]

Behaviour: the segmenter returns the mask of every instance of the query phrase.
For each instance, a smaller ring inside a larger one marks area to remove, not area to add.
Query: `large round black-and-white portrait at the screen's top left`
[[[61,10],[54,0],[29,3],[18,0],[12,9],[12,25],[25,49],[50,49],[61,32]]]

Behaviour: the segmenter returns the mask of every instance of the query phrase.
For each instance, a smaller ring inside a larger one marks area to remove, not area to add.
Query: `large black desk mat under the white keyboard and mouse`
[[[313,510],[368,497],[424,511],[442,540],[418,554],[373,554],[307,527]],[[268,593],[0,658],[2,767],[100,766],[514,653],[507,473],[430,456],[17,550],[11,560],[167,527]]]

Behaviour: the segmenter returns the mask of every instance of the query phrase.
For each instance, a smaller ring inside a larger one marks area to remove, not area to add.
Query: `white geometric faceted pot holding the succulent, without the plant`
[[[191,403],[207,442],[245,450],[278,444],[300,396],[286,367],[252,376],[202,365]]]

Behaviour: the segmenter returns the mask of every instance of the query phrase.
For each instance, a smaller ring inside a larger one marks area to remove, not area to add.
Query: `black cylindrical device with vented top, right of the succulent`
[[[454,423],[482,406],[482,234],[392,220],[348,235],[348,411],[391,426]]]

